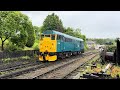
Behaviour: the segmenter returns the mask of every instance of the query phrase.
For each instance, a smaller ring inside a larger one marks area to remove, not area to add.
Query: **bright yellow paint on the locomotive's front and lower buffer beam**
[[[57,41],[51,40],[50,37],[44,37],[43,40],[40,40],[40,52],[56,52],[57,51]],[[43,56],[39,55],[39,60],[43,61]],[[45,56],[45,60],[47,61],[55,61],[57,60],[57,55],[49,56],[48,54]]]

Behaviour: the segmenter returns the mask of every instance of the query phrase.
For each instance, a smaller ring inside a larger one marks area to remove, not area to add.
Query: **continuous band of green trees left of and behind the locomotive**
[[[7,44],[5,49],[8,51],[21,50],[26,46],[39,50],[39,36],[44,30],[56,30],[82,38],[87,48],[86,37],[81,34],[81,30],[79,28],[74,30],[70,27],[64,29],[62,21],[54,13],[46,17],[42,27],[37,27],[33,26],[28,16],[20,11],[0,11],[0,43],[2,44],[0,47],[2,50],[6,40],[9,40],[9,45]]]

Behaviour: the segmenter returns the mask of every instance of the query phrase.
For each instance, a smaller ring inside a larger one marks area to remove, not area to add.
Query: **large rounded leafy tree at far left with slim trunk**
[[[28,46],[32,46],[35,37],[31,21],[19,11],[0,11],[0,38],[2,50],[7,39],[22,48],[28,45],[28,42]]]

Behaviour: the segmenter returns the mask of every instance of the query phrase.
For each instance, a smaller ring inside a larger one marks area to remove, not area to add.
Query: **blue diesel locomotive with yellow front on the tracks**
[[[84,41],[55,30],[46,30],[40,36],[40,61],[55,61],[84,52]]]

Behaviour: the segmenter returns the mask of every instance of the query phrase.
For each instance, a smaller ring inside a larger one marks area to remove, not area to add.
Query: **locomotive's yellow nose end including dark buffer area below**
[[[51,54],[56,52],[56,40],[51,40],[48,37],[44,37],[40,43],[40,52],[43,52],[42,55],[39,56],[40,61],[55,61],[57,60],[57,55]]]

